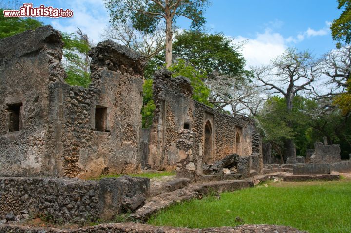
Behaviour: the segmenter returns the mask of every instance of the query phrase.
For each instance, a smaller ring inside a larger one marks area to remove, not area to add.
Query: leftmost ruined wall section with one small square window
[[[63,82],[57,31],[38,28],[0,40],[0,176],[58,175],[48,86]],[[21,130],[8,132],[8,104],[21,103]],[[51,163],[51,164],[50,164]]]

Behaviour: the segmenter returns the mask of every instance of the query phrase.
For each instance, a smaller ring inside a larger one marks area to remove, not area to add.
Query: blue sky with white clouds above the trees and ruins
[[[26,1],[29,2],[29,1]],[[95,43],[108,25],[109,15],[101,0],[34,0],[71,9],[71,19],[40,18],[46,24],[65,32],[79,27]],[[288,47],[308,49],[316,57],[335,48],[329,23],[339,17],[336,0],[212,0],[206,9],[209,32],[223,32],[233,42],[246,41],[243,55],[249,65],[267,64]],[[179,19],[180,28],[189,20]]]

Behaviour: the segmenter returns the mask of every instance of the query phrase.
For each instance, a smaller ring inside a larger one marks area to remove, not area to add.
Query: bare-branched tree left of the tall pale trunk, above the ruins
[[[102,38],[112,39],[130,49],[143,54],[146,60],[150,60],[166,47],[166,35],[164,28],[156,27],[153,33],[138,31],[130,23],[111,25],[104,30]]]

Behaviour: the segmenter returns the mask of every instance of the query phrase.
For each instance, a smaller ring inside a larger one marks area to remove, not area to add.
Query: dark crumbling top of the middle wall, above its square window
[[[108,39],[98,43],[89,53],[92,57],[90,70],[93,73],[101,67],[122,73],[143,76],[145,58],[124,45]]]

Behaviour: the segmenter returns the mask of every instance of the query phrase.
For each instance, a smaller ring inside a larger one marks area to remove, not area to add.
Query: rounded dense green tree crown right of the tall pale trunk
[[[222,33],[207,34],[199,31],[185,31],[176,37],[173,44],[174,57],[191,63],[195,69],[204,70],[208,75],[239,76],[245,73],[245,59],[240,46]]]

